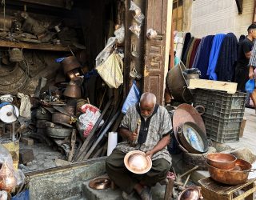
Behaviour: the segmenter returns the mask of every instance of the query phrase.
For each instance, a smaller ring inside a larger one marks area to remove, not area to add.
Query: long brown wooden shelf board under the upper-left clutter
[[[9,41],[0,40],[0,46],[17,47],[17,48],[31,49],[31,50],[70,51],[70,49],[67,46],[52,45],[52,44],[46,44],[46,43],[9,42]]]

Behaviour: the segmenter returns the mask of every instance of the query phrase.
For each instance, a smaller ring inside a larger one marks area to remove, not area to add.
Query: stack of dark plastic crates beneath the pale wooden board
[[[207,137],[216,142],[236,142],[245,113],[246,94],[227,94],[218,90],[197,89],[194,106],[204,106],[202,118]]]

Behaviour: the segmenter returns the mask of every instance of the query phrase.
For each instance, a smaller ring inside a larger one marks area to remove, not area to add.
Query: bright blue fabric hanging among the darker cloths
[[[221,50],[222,42],[225,36],[226,34],[216,34],[214,37],[214,41],[210,50],[209,65],[207,70],[207,75],[209,76],[210,80],[218,80],[215,68],[217,66],[219,52]]]

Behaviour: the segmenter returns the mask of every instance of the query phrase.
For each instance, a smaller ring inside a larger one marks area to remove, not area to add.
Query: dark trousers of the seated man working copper
[[[120,150],[113,150],[112,154],[106,158],[106,173],[110,179],[122,191],[130,194],[137,183],[145,186],[154,186],[166,178],[170,163],[166,159],[160,158],[152,161],[152,168],[146,174],[133,174],[126,169],[123,159],[126,154]]]

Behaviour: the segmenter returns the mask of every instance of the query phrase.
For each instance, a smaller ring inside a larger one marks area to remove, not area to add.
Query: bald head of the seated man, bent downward
[[[143,117],[148,118],[154,111],[154,106],[157,102],[157,98],[154,94],[146,92],[142,94],[140,100],[140,109]]]

